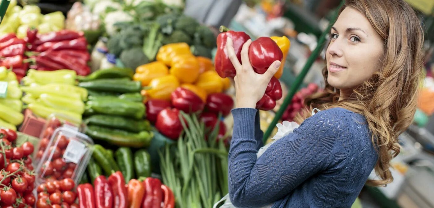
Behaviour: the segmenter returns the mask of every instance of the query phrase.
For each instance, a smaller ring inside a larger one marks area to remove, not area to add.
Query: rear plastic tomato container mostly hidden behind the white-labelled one
[[[53,136],[53,132],[61,126],[67,126],[75,131],[80,131],[82,129],[81,123],[69,116],[58,113],[53,113],[49,115],[39,136],[39,139],[41,140],[36,146],[37,151],[35,151],[33,155],[33,165],[39,163],[39,160],[42,158],[42,155],[46,149],[46,146],[49,143],[51,136]]]

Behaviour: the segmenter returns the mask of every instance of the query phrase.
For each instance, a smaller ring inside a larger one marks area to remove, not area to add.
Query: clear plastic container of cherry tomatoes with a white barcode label
[[[36,165],[36,185],[72,178],[78,184],[92,155],[92,139],[68,126],[54,130]]]

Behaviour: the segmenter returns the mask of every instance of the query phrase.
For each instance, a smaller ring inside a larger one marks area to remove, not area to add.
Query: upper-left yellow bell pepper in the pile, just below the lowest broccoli
[[[152,79],[166,76],[169,74],[169,69],[164,63],[154,61],[136,68],[136,73],[133,76],[134,81],[140,81],[141,86],[148,86]]]

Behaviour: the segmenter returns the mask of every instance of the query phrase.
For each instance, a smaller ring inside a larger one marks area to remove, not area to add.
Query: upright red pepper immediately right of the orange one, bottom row
[[[148,177],[143,184],[145,185],[145,199],[142,207],[161,208],[161,202],[163,201],[161,181],[158,178]]]

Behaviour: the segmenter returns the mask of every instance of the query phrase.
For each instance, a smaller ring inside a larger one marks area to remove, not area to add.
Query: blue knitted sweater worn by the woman
[[[364,116],[342,108],[320,111],[257,158],[263,132],[256,112],[232,110],[228,160],[233,205],[351,207],[378,159]]]

